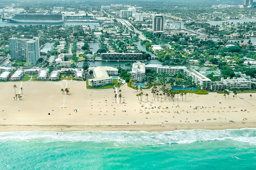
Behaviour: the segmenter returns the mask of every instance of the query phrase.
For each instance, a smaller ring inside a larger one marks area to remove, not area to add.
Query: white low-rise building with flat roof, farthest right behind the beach
[[[223,77],[220,80],[222,83],[224,83],[227,88],[230,87],[231,89],[250,89],[252,82],[247,80],[246,78],[236,78],[233,77],[233,79],[230,79],[228,77],[227,79],[224,79]]]

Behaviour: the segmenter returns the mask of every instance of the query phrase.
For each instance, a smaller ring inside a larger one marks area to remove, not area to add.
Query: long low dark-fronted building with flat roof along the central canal
[[[142,53],[101,53],[102,60],[143,60]]]

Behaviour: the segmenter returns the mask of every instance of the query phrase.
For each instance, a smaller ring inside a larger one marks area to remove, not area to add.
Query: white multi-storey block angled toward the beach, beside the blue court
[[[199,73],[195,69],[184,69],[189,76],[192,77],[192,80],[195,84],[199,85],[203,90],[211,89],[211,79],[205,77],[203,74]]]

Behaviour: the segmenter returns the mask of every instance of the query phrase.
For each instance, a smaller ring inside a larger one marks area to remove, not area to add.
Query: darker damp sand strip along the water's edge
[[[221,126],[219,126],[221,125]],[[177,129],[175,129],[177,128]],[[146,131],[146,132],[165,132],[175,130],[227,130],[227,129],[241,129],[241,128],[256,128],[255,123],[208,123],[198,126],[191,124],[165,124],[165,125],[0,125],[0,132],[13,131],[56,131],[56,132],[77,132],[77,131]]]

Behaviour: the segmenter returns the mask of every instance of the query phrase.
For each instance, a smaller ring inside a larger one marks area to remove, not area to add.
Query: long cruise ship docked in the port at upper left
[[[15,14],[12,18],[5,18],[9,22],[25,23],[63,23],[64,14],[46,12],[44,14]]]

